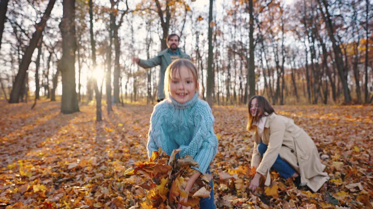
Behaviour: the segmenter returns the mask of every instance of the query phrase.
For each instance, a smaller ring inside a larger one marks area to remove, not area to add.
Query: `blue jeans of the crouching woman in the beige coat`
[[[260,142],[258,144],[258,152],[260,156],[263,158],[264,153],[267,151],[268,145]],[[272,168],[275,169],[282,177],[285,179],[291,177],[295,173],[295,169],[289,165],[286,161],[282,160],[280,155],[277,156],[275,163],[273,163]]]

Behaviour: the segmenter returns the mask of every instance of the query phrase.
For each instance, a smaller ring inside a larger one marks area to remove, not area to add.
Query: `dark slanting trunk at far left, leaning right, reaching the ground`
[[[49,1],[47,9],[43,14],[43,17],[41,17],[40,22],[36,24],[36,30],[32,34],[32,38],[29,42],[29,45],[27,46],[26,51],[22,56],[21,65],[19,66],[19,71],[17,73],[15,83],[13,85],[9,103],[19,102],[19,97],[21,96],[22,87],[25,82],[25,76],[31,62],[32,54],[34,53],[34,50],[40,40],[41,34],[44,30],[44,27],[46,26],[47,20],[49,19],[49,15],[53,9],[55,2],[56,0]]]

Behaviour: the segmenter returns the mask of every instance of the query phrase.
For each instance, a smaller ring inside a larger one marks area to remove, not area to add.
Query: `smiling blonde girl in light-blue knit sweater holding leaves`
[[[164,77],[166,99],[154,106],[147,144],[149,157],[159,147],[168,155],[173,149],[181,148],[178,157],[191,155],[199,163],[199,168],[192,167],[199,172],[188,180],[187,193],[201,173],[210,173],[210,163],[218,145],[211,108],[198,98],[198,87],[197,69],[191,61],[178,59],[167,67]],[[212,180],[210,185],[213,187]],[[187,199],[180,197],[179,201],[186,202]],[[179,204],[179,208],[185,207]],[[200,208],[216,208],[213,190],[210,198],[201,199]]]

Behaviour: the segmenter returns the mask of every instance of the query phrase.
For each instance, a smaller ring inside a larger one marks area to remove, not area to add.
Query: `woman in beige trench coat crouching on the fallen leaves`
[[[294,120],[277,115],[263,96],[250,99],[248,112],[247,130],[255,131],[251,167],[257,168],[249,189],[254,191],[265,175],[269,186],[270,168],[286,179],[295,177],[298,187],[307,185],[313,192],[329,180],[316,145]]]

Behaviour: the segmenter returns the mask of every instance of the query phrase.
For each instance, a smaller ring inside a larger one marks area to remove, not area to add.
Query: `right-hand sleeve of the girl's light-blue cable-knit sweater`
[[[181,145],[180,156],[191,155],[198,162],[199,168],[192,167],[201,173],[206,173],[211,161],[216,155],[218,141],[214,134],[214,116],[208,104],[203,104],[194,117],[194,134],[188,145]]]

